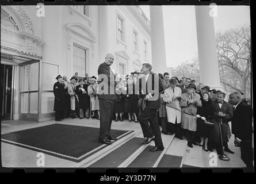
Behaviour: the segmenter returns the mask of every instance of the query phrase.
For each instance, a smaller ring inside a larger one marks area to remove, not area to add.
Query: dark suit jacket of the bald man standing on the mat
[[[115,100],[116,99],[115,86],[116,86],[117,82],[114,78],[114,73],[112,72],[112,70],[110,69],[108,64],[106,64],[105,62],[101,63],[100,66],[98,67],[99,78],[100,78],[100,75],[102,75],[102,74],[106,75],[106,77],[108,78],[108,81],[106,81],[106,80],[98,81],[98,84],[100,86],[101,85],[108,86],[108,94],[104,94],[104,93],[98,94],[98,98],[99,99]],[[102,86],[101,89],[99,88],[99,91],[103,91],[104,86]]]

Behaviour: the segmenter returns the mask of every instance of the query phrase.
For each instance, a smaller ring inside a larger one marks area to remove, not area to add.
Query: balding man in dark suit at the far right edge
[[[229,102],[234,105],[231,123],[232,133],[235,135],[235,143],[240,143],[243,162],[248,168],[253,168],[253,112],[251,106],[242,101],[242,95],[238,91],[230,94]]]

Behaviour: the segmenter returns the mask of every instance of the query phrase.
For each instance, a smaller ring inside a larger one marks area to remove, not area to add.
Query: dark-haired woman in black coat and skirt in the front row
[[[209,98],[208,92],[202,94],[202,106],[197,109],[199,114],[204,120],[211,122],[213,116],[213,105],[212,100]],[[205,123],[202,118],[197,118],[197,136],[200,137],[200,146],[204,144],[204,150],[208,151],[208,137],[213,131],[213,125]]]

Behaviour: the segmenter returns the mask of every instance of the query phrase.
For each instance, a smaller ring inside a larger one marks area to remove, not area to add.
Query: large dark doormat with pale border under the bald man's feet
[[[98,141],[99,132],[99,128],[53,124],[6,133],[1,135],[1,141],[73,162],[81,162],[107,146]],[[116,137],[125,136],[126,132],[128,131],[110,131]]]

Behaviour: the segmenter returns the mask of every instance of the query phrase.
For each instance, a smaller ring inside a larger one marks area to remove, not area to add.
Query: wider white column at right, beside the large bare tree
[[[195,6],[200,81],[211,89],[220,89],[216,39],[209,6]]]

